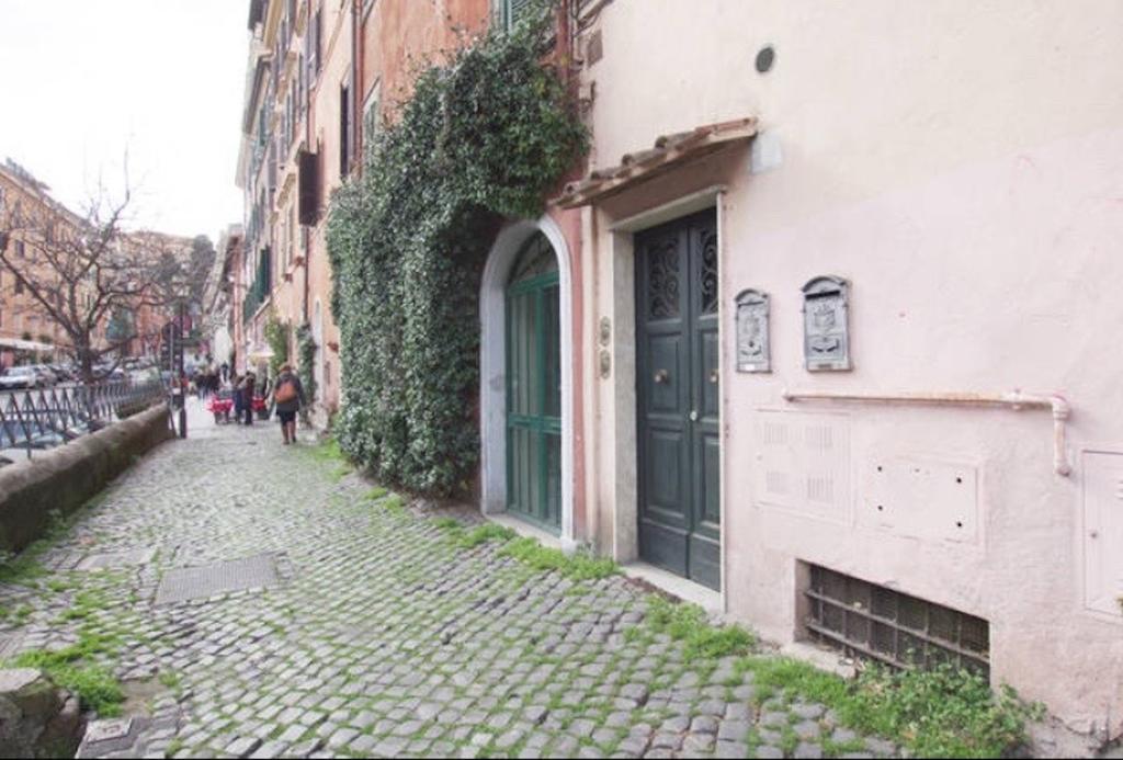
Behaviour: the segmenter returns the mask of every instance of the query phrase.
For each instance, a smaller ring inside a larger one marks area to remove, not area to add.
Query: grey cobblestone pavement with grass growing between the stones
[[[647,594],[449,540],[273,423],[216,427],[128,471],[0,587],[6,654],[112,637],[126,718],[85,757],[875,757],[731,659],[636,637]],[[476,520],[472,513],[451,515]],[[183,574],[240,560],[214,573]],[[241,590],[222,590],[240,588]],[[202,596],[201,596],[202,595]]]

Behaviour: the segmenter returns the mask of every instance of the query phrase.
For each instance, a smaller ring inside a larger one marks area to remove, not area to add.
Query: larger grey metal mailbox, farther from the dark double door
[[[803,356],[809,372],[850,368],[850,285],[815,277],[803,286]]]

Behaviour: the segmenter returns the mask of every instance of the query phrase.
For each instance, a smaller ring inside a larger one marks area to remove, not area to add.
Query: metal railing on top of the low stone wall
[[[159,381],[0,392],[0,449],[51,449],[157,403]]]

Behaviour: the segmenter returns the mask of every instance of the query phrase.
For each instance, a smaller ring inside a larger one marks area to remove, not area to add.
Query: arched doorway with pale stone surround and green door
[[[576,546],[569,253],[549,218],[497,237],[481,285],[482,509]]]

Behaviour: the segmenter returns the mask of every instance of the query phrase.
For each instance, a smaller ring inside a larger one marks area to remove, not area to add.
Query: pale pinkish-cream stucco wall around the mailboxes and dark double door
[[[729,611],[783,641],[798,631],[798,561],[889,585],[985,617],[996,683],[1077,727],[1111,716],[1117,733],[1123,614],[1090,610],[1089,583],[1123,593],[1112,559],[1123,556],[1123,467],[1116,475],[1084,451],[1123,452],[1123,359],[1111,338],[1123,324],[1123,3],[617,0],[594,28],[604,47],[585,73],[595,165],[745,116],[783,152],[766,173],[750,174],[747,152],[734,152],[588,212],[592,327],[632,313],[620,303],[632,297],[627,241],[611,222],[728,186]],[[777,58],[761,75],[754,58],[765,44]],[[849,373],[803,368],[800,287],[822,274],[852,285]],[[768,375],[733,372],[730,306],[746,287],[772,295]],[[614,324],[617,372],[595,383],[587,412],[597,538],[622,556],[614,525],[634,513],[620,487],[634,473],[632,331]],[[793,405],[784,388],[1060,393],[1072,405],[1075,471],[1052,470],[1046,412]],[[844,442],[834,498],[812,514],[761,498],[759,425],[773,419],[832,422]],[[902,461],[944,463],[975,486],[931,498],[912,483],[874,486],[877,465]],[[875,514],[875,496],[898,516]],[[1089,528],[1086,511],[1112,500],[1116,511]],[[1097,551],[1105,559],[1089,567]]]

